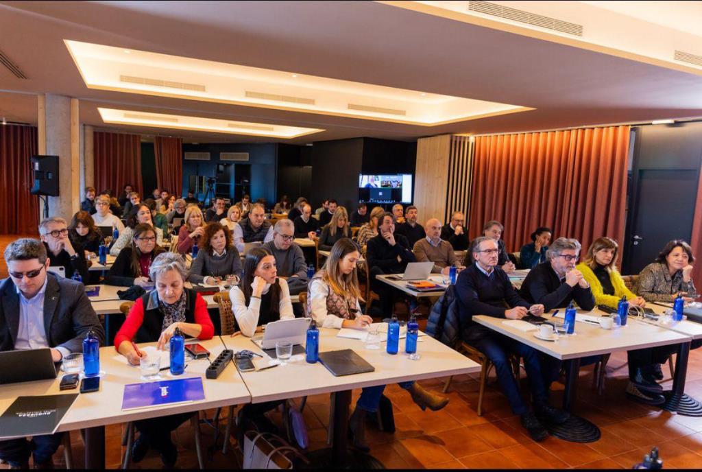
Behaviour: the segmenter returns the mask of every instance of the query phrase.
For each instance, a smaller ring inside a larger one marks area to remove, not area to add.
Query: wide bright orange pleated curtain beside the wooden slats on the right
[[[508,251],[519,251],[538,226],[583,245],[624,237],[629,126],[481,136],[468,223],[505,225]]]

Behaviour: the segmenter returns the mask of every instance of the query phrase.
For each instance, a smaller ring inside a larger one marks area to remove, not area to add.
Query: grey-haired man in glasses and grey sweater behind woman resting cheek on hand
[[[273,227],[273,240],[263,244],[275,258],[278,276],[285,277],[291,295],[307,290],[307,265],[303,249],[295,239],[295,226],[287,218],[278,220]]]

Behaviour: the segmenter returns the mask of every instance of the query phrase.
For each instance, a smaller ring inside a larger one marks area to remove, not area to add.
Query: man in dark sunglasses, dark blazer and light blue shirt
[[[51,348],[54,362],[79,353],[83,339],[93,331],[105,344],[105,330],[79,282],[61,279],[46,270],[44,244],[29,238],[8,244],[5,261],[10,277],[0,281],[0,351]],[[61,434],[0,441],[0,459],[11,468],[53,468],[51,457]]]

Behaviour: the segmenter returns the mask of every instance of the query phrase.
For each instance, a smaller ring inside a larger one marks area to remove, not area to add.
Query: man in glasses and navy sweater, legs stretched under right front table
[[[562,424],[570,415],[548,405],[548,389],[543,381],[538,351],[472,320],[474,315],[519,320],[530,311],[534,315],[543,313],[543,305],[530,306],[512,287],[508,275],[498,266],[499,252],[494,238],[482,236],[472,242],[470,253],[474,262],[461,271],[456,281],[461,337],[493,362],[497,379],[510,402],[512,412],[519,415],[522,426],[529,431],[531,438],[539,442],[548,436],[548,431],[541,421]],[[519,386],[508,358],[512,353],[519,355],[524,362],[524,369],[529,378],[533,412],[519,393]]]

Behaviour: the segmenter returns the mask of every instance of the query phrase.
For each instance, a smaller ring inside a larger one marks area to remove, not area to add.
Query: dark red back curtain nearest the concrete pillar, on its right
[[[135,192],[141,188],[141,139],[138,134],[93,134],[95,155],[95,188],[98,192],[112,189],[119,195],[124,185],[131,183]]]

